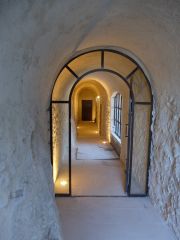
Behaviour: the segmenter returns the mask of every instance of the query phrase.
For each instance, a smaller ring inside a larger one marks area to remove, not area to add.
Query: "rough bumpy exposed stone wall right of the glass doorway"
[[[167,92],[157,102],[150,169],[150,197],[180,238],[180,104]]]

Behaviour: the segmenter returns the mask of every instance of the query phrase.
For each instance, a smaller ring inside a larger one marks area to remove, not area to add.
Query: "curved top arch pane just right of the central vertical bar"
[[[113,52],[104,52],[104,68],[114,70],[124,77],[132,72],[136,65],[128,58]]]

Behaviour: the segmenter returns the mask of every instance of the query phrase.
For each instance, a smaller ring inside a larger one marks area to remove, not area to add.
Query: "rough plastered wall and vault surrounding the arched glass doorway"
[[[0,30],[0,238],[61,239],[48,145],[50,94],[65,60],[105,45],[128,49],[151,73],[150,196],[179,236],[179,1],[3,0]]]

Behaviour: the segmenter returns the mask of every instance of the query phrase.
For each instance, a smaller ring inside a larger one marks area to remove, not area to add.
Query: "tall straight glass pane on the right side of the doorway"
[[[149,105],[134,106],[131,194],[146,193],[150,112]]]

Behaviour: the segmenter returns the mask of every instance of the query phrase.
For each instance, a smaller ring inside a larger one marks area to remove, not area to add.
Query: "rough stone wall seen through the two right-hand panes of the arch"
[[[130,80],[135,102],[151,102],[151,89],[137,70]],[[134,105],[131,193],[146,193],[151,105]]]

